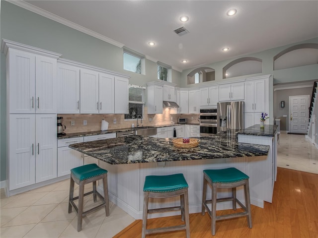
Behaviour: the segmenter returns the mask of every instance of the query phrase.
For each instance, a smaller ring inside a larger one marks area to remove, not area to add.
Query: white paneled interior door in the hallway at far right
[[[289,132],[307,133],[309,95],[289,97]]]

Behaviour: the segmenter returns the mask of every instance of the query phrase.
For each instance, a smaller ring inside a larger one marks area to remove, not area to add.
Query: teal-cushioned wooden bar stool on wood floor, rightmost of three
[[[211,232],[215,235],[216,221],[247,216],[248,227],[252,228],[252,218],[250,213],[250,198],[249,198],[249,177],[236,168],[228,168],[221,170],[204,170],[203,171],[203,193],[202,193],[202,215],[205,215],[205,209],[211,217]],[[206,200],[207,185],[210,184],[212,188],[212,199]],[[244,185],[245,203],[246,207],[237,199],[236,188]],[[218,188],[232,188],[232,196],[217,199]],[[217,202],[232,201],[233,210],[237,210],[236,203],[244,210],[243,212],[233,213],[228,215],[217,216],[216,208]],[[212,203],[212,211],[207,204]]]

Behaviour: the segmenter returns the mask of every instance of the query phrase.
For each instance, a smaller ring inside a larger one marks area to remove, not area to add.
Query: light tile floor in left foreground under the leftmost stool
[[[85,191],[90,189],[91,184],[85,185]],[[135,221],[110,202],[110,216],[103,208],[89,213],[78,232],[74,208],[68,213],[69,179],[11,197],[2,188],[0,195],[1,238],[111,238]],[[92,194],[85,196],[84,210],[92,206]]]

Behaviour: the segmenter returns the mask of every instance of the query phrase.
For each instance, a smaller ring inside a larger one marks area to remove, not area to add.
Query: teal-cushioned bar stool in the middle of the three
[[[180,196],[180,206],[166,207],[157,209],[148,209],[149,198],[168,198]],[[178,211],[181,210],[181,220],[185,221],[184,225],[155,228],[147,230],[148,213]],[[146,176],[144,184],[144,211],[142,238],[147,234],[172,232],[186,230],[186,238],[190,238],[189,222],[189,201],[188,201],[188,183],[183,174],[166,175],[166,176]]]

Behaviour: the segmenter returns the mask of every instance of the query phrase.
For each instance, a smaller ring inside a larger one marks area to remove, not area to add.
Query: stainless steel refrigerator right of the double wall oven
[[[218,131],[244,129],[244,102],[218,103]]]

